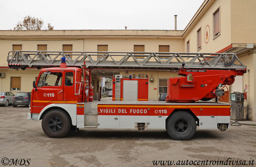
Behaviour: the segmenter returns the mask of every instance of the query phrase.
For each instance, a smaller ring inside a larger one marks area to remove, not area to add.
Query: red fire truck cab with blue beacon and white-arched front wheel
[[[51,137],[66,135],[77,126],[77,106],[89,99],[88,80],[87,70],[67,67],[65,58],[60,67],[42,69],[33,82],[29,119],[43,119],[42,128]]]

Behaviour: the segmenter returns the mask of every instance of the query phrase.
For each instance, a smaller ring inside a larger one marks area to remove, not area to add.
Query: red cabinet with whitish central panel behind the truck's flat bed
[[[147,74],[113,75],[112,101],[148,101]]]

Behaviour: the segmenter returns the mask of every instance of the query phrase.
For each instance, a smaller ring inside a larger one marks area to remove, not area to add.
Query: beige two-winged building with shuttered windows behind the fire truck
[[[9,69],[6,59],[12,50],[118,51],[236,53],[248,72],[236,77],[230,92],[247,92],[249,119],[256,120],[256,11],[255,0],[205,0],[184,30],[0,30],[0,91],[31,91],[39,70]],[[103,72],[104,71],[104,72]],[[94,93],[100,76],[147,73],[149,100],[166,90],[166,79],[177,76],[170,70],[93,71]]]

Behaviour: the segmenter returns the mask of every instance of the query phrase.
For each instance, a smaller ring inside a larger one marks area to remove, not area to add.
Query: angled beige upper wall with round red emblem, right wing
[[[220,35],[214,38],[213,13],[220,9]],[[231,9],[230,0],[215,0],[209,8],[204,9],[203,15],[198,16],[198,21],[191,25],[185,33],[184,48],[189,40],[191,53],[215,53],[231,44]],[[209,41],[205,42],[205,30],[209,25]],[[201,49],[197,50],[197,30],[201,27]],[[233,27],[232,27],[233,28]]]

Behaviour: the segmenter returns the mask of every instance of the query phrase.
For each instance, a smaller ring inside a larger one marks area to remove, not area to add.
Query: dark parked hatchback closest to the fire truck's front
[[[30,105],[31,92],[19,92],[15,94],[12,100],[12,106],[17,105]]]

